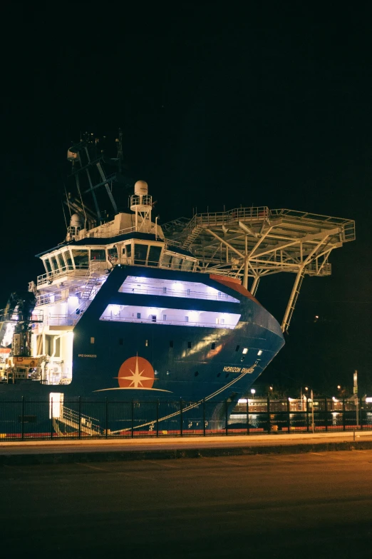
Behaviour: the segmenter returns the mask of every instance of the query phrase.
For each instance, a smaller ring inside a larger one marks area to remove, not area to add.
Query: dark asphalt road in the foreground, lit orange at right
[[[0,467],[3,557],[372,557],[372,450],[76,458]]]

